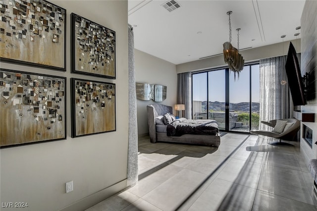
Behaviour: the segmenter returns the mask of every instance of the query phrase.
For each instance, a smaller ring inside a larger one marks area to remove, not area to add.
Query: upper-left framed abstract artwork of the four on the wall
[[[45,0],[0,1],[1,61],[66,71],[66,10]]]

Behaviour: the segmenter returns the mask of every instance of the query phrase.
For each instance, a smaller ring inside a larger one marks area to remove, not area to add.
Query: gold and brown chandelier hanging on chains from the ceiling
[[[236,29],[238,31],[238,49],[234,48],[231,45],[231,20],[230,15],[232,14],[232,11],[228,11],[227,15],[229,15],[229,42],[225,42],[223,44],[223,57],[224,62],[228,64],[229,69],[234,72],[234,79],[236,78],[236,74],[239,78],[239,73],[243,69],[244,66],[244,59],[242,55],[239,53],[239,31],[241,30]]]

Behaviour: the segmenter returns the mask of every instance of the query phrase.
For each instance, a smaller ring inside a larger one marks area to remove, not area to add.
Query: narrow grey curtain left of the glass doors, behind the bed
[[[192,118],[192,73],[177,74],[177,104],[185,105],[183,117]]]

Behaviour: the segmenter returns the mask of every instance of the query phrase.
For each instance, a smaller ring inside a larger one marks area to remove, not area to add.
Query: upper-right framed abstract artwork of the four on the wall
[[[115,32],[84,17],[71,17],[71,72],[115,79]]]

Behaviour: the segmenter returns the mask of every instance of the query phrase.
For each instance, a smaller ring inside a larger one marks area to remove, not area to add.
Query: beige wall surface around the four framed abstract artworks
[[[67,77],[67,139],[0,150],[1,202],[28,203],[29,207],[23,209],[24,211],[55,211],[73,203],[75,205],[65,210],[78,211],[126,187],[128,2],[123,0],[53,0],[52,2],[67,10],[67,71],[0,63],[1,68]],[[115,80],[70,73],[71,12],[116,32]],[[79,138],[70,137],[69,79],[71,77],[116,84],[116,131]],[[65,182],[70,180],[73,180],[74,191],[66,194]]]

